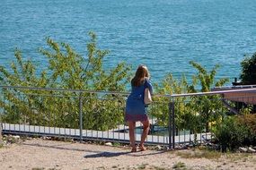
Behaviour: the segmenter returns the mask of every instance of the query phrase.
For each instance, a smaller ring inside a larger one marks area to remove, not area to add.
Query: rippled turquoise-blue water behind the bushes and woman
[[[219,64],[216,80],[239,78],[244,55],[256,52],[256,0],[1,0],[0,65],[11,70],[14,49],[47,69],[46,38],[66,42],[86,58],[88,33],[110,50],[103,67],[146,64],[153,82],[167,73],[189,81]]]

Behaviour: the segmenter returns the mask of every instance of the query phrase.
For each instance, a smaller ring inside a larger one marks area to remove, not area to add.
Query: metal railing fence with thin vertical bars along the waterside
[[[174,149],[213,140],[217,120],[255,109],[255,86],[237,88],[154,95],[147,107],[151,130],[146,143]],[[121,92],[0,86],[3,133],[128,143],[123,119],[127,97]],[[140,140],[142,124],[136,126]]]

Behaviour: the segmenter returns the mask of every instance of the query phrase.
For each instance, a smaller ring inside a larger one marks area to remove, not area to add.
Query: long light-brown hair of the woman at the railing
[[[135,76],[131,80],[131,85],[135,87],[140,86],[145,81],[145,79],[149,79],[149,77],[150,75],[146,65],[138,65]]]

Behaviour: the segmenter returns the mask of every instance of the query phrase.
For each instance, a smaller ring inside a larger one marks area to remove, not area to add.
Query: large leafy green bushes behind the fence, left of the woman
[[[48,60],[48,68],[36,74],[31,60],[23,61],[22,53],[15,51],[12,71],[0,67],[1,83],[10,86],[58,89],[91,89],[124,91],[130,75],[130,66],[120,63],[110,71],[103,69],[103,58],[108,50],[97,47],[96,35],[89,33],[87,56],[83,57],[66,43],[47,38],[49,49],[40,48]],[[77,128],[79,103],[83,102],[84,128],[106,130],[123,121],[124,99],[107,94],[59,91],[4,89],[4,121]],[[120,109],[116,109],[120,108]]]

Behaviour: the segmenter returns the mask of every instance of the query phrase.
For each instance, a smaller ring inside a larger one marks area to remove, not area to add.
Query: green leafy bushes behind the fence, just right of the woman
[[[168,74],[162,81],[161,86],[155,85],[159,94],[181,94],[208,92],[217,86],[223,86],[227,79],[216,81],[216,65],[210,72],[200,64],[190,62],[198,71],[189,83],[185,76],[181,80],[175,80],[172,74]],[[165,102],[164,102],[165,101]],[[190,130],[193,133],[208,131],[208,123],[216,121],[225,112],[224,106],[220,103],[219,96],[188,96],[172,97],[170,101],[164,98],[154,98],[153,115],[160,125],[168,124],[169,108],[168,102],[174,102],[175,123],[180,130]],[[159,103],[159,104],[158,104]],[[164,104],[163,104],[164,103]],[[196,139],[195,139],[196,140]]]

